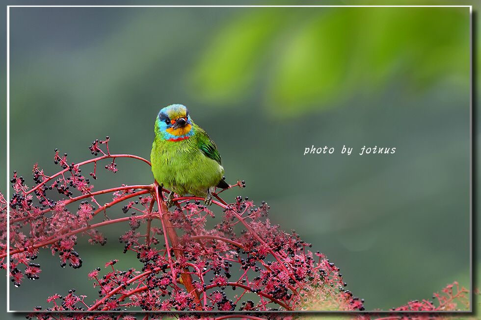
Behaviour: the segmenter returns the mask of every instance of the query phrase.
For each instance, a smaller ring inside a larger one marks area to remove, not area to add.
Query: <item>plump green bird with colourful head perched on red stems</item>
[[[167,199],[169,207],[174,192],[205,197],[210,205],[215,187],[229,188],[214,141],[192,121],[186,106],[171,104],[161,109],[154,132],[152,172],[157,183],[172,191]]]

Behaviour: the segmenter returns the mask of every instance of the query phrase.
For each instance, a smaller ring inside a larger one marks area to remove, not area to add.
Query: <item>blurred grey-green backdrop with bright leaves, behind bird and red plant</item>
[[[224,196],[266,200],[366,309],[469,286],[467,8],[12,8],[10,37],[10,167],[27,182],[35,162],[56,169],[54,148],[80,161],[106,135],[148,158],[158,110],[183,103],[228,181],[247,182]],[[312,145],[336,152],[304,156]],[[357,155],[374,145],[397,151]],[[96,189],[152,181],[143,164],[118,167]],[[43,251],[11,309],[70,288],[94,299],[88,271],[135,262],[123,228],[104,229],[106,247],[80,241],[80,270]]]

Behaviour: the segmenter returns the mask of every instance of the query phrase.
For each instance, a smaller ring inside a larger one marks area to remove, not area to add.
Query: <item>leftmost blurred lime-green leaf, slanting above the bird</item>
[[[194,70],[194,91],[208,101],[221,103],[241,97],[252,85],[258,63],[286,10],[257,8],[241,12],[245,13],[221,26]]]

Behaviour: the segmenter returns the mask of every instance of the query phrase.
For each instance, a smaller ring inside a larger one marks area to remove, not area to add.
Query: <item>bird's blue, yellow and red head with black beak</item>
[[[185,140],[194,134],[189,112],[182,104],[171,104],[161,109],[157,116],[156,129],[159,129],[161,138],[168,141]]]

